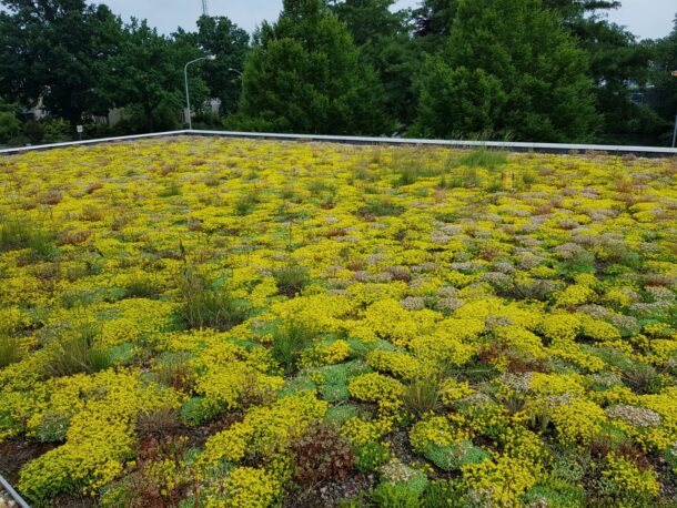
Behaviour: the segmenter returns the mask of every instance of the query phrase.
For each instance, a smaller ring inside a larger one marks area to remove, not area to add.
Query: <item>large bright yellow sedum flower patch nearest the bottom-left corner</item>
[[[129,372],[103,372],[50,380],[37,389],[44,395],[33,408],[33,434],[47,418],[68,424],[65,444],[22,470],[19,487],[44,500],[58,492],[95,495],[123,470],[134,456],[134,426],[141,413],[176,408],[180,399],[169,389],[143,385]]]

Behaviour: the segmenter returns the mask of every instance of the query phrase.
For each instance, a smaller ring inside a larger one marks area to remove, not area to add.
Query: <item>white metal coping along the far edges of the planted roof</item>
[[[289,140],[289,141],[322,141],[329,143],[344,144],[390,144],[390,145],[432,145],[451,148],[492,148],[504,149],[516,152],[542,152],[542,153],[569,153],[569,152],[606,152],[613,155],[634,154],[647,158],[669,158],[677,156],[677,149],[661,146],[622,146],[606,144],[560,144],[560,143],[525,143],[506,141],[462,141],[462,140],[423,140],[408,138],[365,138],[365,136],[343,136],[343,135],[322,135],[322,134],[277,134],[266,132],[238,132],[238,131],[204,131],[204,130],[181,130],[169,132],[155,132],[150,134],[125,135],[118,138],[102,138],[98,140],[71,141],[67,143],[51,143],[36,146],[19,146],[0,150],[0,155],[11,155],[29,151],[53,150],[70,146],[83,146],[99,143],[112,143],[143,140],[149,138],[163,138],[176,135],[199,135],[215,138],[245,138],[265,140]]]

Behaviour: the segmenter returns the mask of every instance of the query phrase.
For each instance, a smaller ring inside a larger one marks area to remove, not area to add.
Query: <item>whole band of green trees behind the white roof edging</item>
[[[226,17],[159,33],[85,0],[0,0],[0,96],[16,108],[4,132],[176,129],[183,67],[214,54],[189,72],[201,128],[669,143],[677,34],[638,40],[607,19],[620,4],[285,0],[250,37]],[[109,125],[112,109],[122,121]]]

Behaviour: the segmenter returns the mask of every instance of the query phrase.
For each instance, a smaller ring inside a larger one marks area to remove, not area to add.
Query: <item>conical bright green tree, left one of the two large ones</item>
[[[391,122],[374,70],[324,0],[284,0],[264,23],[244,67],[240,129],[381,134]]]

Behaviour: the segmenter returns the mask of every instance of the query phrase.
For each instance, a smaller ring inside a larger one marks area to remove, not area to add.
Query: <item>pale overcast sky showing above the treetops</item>
[[[202,9],[201,0],[99,0],[124,19],[148,19],[161,32],[170,33],[181,26],[192,30]],[[400,0],[398,7],[414,7],[420,0]],[[274,21],[282,0],[209,0],[210,14],[228,16],[251,32],[261,21]],[[644,39],[667,35],[677,13],[675,0],[623,0],[623,7],[610,14],[612,21],[627,27]]]

